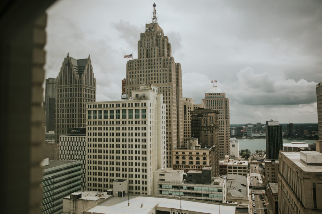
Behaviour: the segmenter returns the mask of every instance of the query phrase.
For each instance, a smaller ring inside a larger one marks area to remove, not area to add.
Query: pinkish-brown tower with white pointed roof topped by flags
[[[216,85],[205,93],[204,99],[202,100],[205,108],[219,111],[219,158],[224,159],[225,155],[230,156],[229,99],[226,98],[226,93]]]

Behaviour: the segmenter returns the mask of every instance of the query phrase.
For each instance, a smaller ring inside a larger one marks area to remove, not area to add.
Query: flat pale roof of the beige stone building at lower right
[[[304,172],[315,172],[315,173],[322,173],[322,166],[313,166],[313,165],[306,165],[305,163],[301,162],[301,153],[303,155],[311,155],[316,158],[321,158],[322,154],[317,151],[280,151],[281,154],[285,155],[289,158],[295,165],[301,168]],[[320,160],[320,159],[319,159]]]

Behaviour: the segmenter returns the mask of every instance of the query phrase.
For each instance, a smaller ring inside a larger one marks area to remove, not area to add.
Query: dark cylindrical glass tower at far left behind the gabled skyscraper
[[[45,80],[46,132],[55,131],[56,79]]]

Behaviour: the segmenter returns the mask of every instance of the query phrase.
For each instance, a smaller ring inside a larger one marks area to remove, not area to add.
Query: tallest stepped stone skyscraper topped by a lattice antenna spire
[[[137,59],[129,60],[126,69],[126,94],[145,84],[153,84],[164,95],[166,104],[167,167],[172,166],[171,153],[183,144],[183,103],[181,65],[171,55],[171,44],[156,19],[153,4],[152,22],[137,42]]]

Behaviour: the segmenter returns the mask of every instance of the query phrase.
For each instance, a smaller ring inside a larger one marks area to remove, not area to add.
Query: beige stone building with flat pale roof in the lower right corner
[[[280,151],[279,213],[322,213],[321,175],[321,153],[317,151]]]

